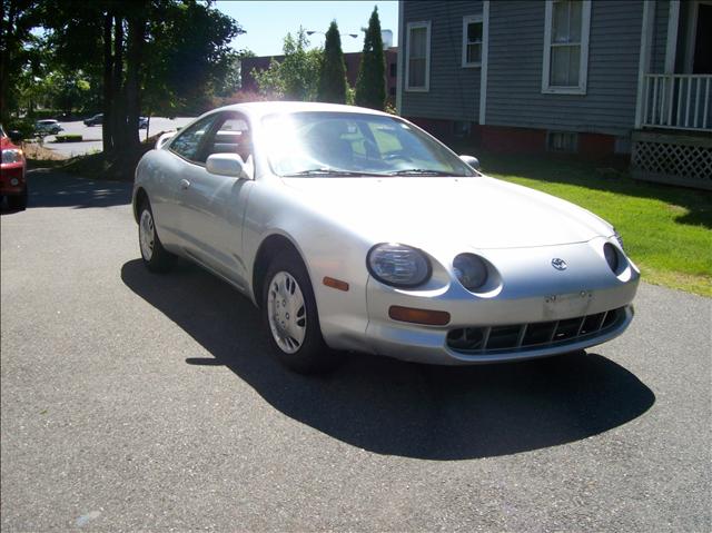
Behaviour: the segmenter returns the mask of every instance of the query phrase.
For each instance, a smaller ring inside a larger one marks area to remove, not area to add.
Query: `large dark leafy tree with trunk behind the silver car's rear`
[[[205,109],[229,69],[231,39],[244,33],[210,0],[44,0],[41,6],[57,65],[100,80],[103,151],[113,161],[139,151],[141,111],[174,116]]]

